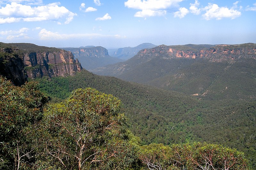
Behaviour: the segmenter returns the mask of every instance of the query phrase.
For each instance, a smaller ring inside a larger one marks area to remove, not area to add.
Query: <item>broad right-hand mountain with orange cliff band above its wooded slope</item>
[[[210,46],[160,45],[93,72],[198,98],[255,100],[256,44]]]

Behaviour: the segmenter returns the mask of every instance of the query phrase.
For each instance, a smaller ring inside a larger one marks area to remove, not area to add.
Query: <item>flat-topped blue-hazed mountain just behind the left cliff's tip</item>
[[[91,70],[97,67],[103,67],[108,64],[124,61],[119,58],[109,56],[108,50],[100,46],[86,46],[79,48],[62,49],[70,51],[74,55],[74,57],[79,60],[83,68],[86,70]]]

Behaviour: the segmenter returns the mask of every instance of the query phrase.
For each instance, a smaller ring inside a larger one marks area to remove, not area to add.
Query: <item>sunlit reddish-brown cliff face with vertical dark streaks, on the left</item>
[[[73,76],[82,71],[82,66],[69,51],[30,52],[24,54],[24,65],[28,78],[43,76]]]

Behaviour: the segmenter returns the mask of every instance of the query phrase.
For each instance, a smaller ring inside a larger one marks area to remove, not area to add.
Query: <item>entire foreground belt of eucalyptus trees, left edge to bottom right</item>
[[[111,94],[79,88],[51,104],[36,82],[0,85],[1,169],[249,169],[220,144],[143,145]]]

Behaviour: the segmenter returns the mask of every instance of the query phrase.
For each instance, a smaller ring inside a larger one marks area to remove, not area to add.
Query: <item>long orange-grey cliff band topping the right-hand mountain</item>
[[[165,46],[160,45],[156,48],[143,49],[135,56],[137,59],[150,60],[156,56],[164,59],[170,58],[206,58],[211,61],[227,61],[237,58],[255,58],[256,44],[240,44],[240,45],[216,45],[208,49],[191,49],[182,50],[181,46]]]

